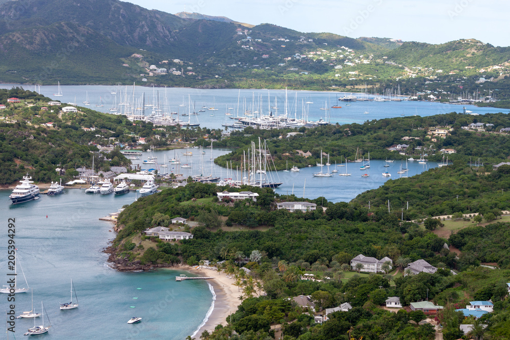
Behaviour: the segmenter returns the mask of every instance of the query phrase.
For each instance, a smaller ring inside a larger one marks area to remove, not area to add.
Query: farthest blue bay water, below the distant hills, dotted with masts
[[[13,86],[22,86],[27,90],[34,90],[34,85],[19,85],[19,84],[0,84],[0,88],[12,88]],[[54,93],[58,92],[57,85],[54,86],[41,86],[40,93],[47,97],[55,100],[60,100],[64,103],[75,102],[78,106],[84,107],[82,103],[87,96],[90,101],[90,106],[86,107],[92,110],[97,110],[105,113],[110,113],[110,108],[115,102],[117,96],[117,103],[121,101],[120,93],[122,91],[122,99],[124,98],[124,92],[132,97],[133,86],[105,86],[105,85],[62,85],[63,96],[53,96]],[[119,88],[121,91],[119,91]],[[39,87],[37,88],[39,90]],[[112,94],[111,92],[117,92]],[[166,94],[165,94],[166,92]],[[191,88],[155,88],[152,87],[135,86],[135,100],[142,97],[142,93],[145,94],[145,103],[159,102],[163,107],[165,102],[165,96],[167,103],[171,111],[179,112],[180,114],[187,112],[188,109],[180,108],[181,104],[185,104],[188,107],[188,95],[191,98],[191,103],[195,107],[195,111],[198,111],[202,106],[208,108],[214,107],[218,111],[207,111],[200,112],[199,116],[191,116],[191,122],[196,122],[195,119],[200,123],[201,127],[209,128],[222,128],[221,124],[228,122],[232,123],[231,119],[227,119],[225,116],[225,110],[227,107],[234,108],[228,110],[233,116],[242,115],[243,107],[249,108],[254,102],[254,106],[264,114],[268,112],[269,107],[278,107],[278,114],[284,113],[285,103],[285,90],[236,90],[236,89],[216,89],[216,90],[202,90],[202,89],[191,89]],[[153,95],[154,94],[154,95]],[[297,103],[296,103],[297,94]],[[289,115],[297,118],[301,118],[302,115],[302,102],[311,100],[313,104],[305,104],[305,110],[308,112],[309,120],[316,121],[319,118],[324,118],[325,111],[320,110],[324,106],[331,107],[338,102],[338,97],[342,97],[342,93],[337,92],[325,92],[325,91],[288,91],[288,112]],[[358,94],[360,96],[360,94]],[[371,96],[373,97],[373,96]],[[154,99],[153,99],[154,98]],[[259,99],[260,98],[260,99]],[[276,101],[275,101],[276,98]],[[104,103],[104,107],[95,107],[100,101]],[[245,103],[245,106],[244,106]],[[269,105],[268,105],[269,104]],[[346,106],[350,104],[350,106]],[[328,115],[332,123],[363,123],[367,120],[412,116],[417,114],[418,116],[431,116],[437,114],[444,114],[450,112],[462,112],[462,105],[451,105],[443,104],[439,102],[427,102],[427,101],[356,101],[356,102],[339,102],[341,109],[330,109]],[[496,108],[478,108],[473,105],[466,105],[466,110],[472,111],[473,113],[484,114],[484,113],[497,113],[505,112],[507,109],[496,109]],[[151,109],[146,109],[145,114],[149,115]],[[275,112],[272,110],[273,113]],[[368,111],[369,114],[363,114]],[[210,116],[214,114],[214,116]],[[175,118],[175,115],[173,116]],[[188,117],[180,117],[181,120],[188,120]]]

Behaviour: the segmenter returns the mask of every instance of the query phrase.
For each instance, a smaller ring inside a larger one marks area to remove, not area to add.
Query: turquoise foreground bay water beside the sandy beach
[[[98,218],[133,202],[134,193],[100,196],[66,189],[62,195],[41,195],[39,200],[17,205],[10,204],[9,194],[0,191],[4,230],[0,282],[7,281],[7,219],[15,218],[18,258],[34,289],[35,309],[40,312],[43,300],[52,322],[49,333],[40,337],[184,339],[205,318],[212,302],[207,282],[176,282],[179,271],[120,273],[106,265],[108,255],[102,250],[115,234],[110,222]],[[80,306],[61,311],[59,304],[69,302],[71,278]],[[18,284],[24,286],[21,275]],[[2,294],[0,301],[1,310],[7,310],[7,295]],[[30,293],[17,294],[15,305],[17,315],[30,310]],[[142,322],[128,325],[133,316],[142,317]],[[41,324],[40,318],[36,323]],[[17,319],[15,336],[22,338],[33,326],[32,319]]]

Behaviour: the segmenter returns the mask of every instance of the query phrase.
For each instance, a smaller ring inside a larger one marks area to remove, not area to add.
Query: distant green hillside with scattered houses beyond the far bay
[[[448,100],[461,91],[485,92],[476,82],[486,77],[502,84],[496,89],[501,99],[510,97],[504,79],[510,48],[474,39],[439,45],[353,39],[198,13],[173,15],[118,0],[0,2],[0,32],[0,75],[9,82],[55,84],[64,76],[65,84],[344,91],[366,84],[373,93],[400,85],[404,94],[428,90]],[[64,46],[83,51],[70,54]],[[16,55],[27,58],[28,70],[13,62]],[[45,68],[43,77],[34,65]],[[153,72],[149,65],[167,70]],[[426,85],[432,82],[441,84]]]

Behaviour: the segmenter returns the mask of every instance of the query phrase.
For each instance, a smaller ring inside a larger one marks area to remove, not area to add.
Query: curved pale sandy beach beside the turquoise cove
[[[196,267],[179,267],[190,271],[194,274],[201,276],[214,277],[214,279],[207,280],[213,286],[214,293],[216,294],[216,301],[214,302],[214,309],[209,320],[203,325],[195,335],[195,339],[200,338],[200,334],[207,330],[210,333],[214,331],[214,327],[218,324],[225,326],[226,318],[237,310],[237,306],[241,303],[239,297],[242,292],[238,291],[238,287],[233,285],[234,279],[227,278],[225,273],[218,273],[216,270],[207,268],[196,269]]]

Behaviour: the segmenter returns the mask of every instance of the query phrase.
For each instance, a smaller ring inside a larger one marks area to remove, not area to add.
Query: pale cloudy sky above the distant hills
[[[126,1],[126,0],[124,0]],[[351,38],[444,43],[474,38],[509,46],[507,0],[127,0],[168,13],[197,12],[250,24]]]

